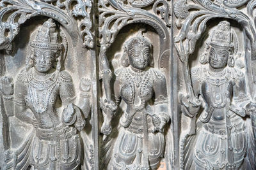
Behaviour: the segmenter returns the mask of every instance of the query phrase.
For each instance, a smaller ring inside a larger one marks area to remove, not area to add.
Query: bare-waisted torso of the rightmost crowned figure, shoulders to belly
[[[205,111],[200,120],[209,122],[225,119],[225,110],[232,101],[234,86],[243,81],[243,73],[232,68],[225,68],[221,73],[214,73],[208,67],[197,67],[191,72],[193,87],[205,102]]]

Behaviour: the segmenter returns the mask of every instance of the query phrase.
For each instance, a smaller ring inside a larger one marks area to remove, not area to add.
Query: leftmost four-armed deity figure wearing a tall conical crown
[[[26,67],[15,79],[14,94],[12,80],[3,80],[4,95],[10,101],[13,98],[8,113],[34,127],[19,148],[6,151],[6,169],[81,167],[79,131],[84,128],[90,100],[80,97],[80,108],[74,104],[72,77],[62,66],[67,54],[67,39],[62,33],[52,19],[44,22],[31,36]],[[61,107],[65,109],[59,111]]]

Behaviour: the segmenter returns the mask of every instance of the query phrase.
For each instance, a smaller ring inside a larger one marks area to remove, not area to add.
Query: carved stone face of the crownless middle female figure
[[[129,50],[128,56],[132,67],[136,69],[145,69],[150,62],[150,48],[148,46],[134,46]]]

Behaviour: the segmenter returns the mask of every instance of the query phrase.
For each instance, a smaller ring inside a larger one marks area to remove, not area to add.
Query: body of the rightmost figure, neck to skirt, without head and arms
[[[204,124],[198,130],[193,156],[196,169],[240,167],[247,147],[246,127],[240,115],[230,108],[234,107],[233,100],[243,101],[243,73],[230,67],[213,73],[206,66],[194,69],[191,75],[193,87],[198,87],[195,92],[205,102],[205,110],[199,117]]]

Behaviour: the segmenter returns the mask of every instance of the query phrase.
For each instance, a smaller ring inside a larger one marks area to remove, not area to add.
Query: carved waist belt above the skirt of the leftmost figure
[[[36,129],[36,137],[45,141],[58,141],[74,136],[76,129],[67,125],[60,125],[56,129]]]

